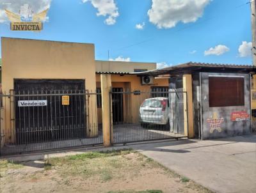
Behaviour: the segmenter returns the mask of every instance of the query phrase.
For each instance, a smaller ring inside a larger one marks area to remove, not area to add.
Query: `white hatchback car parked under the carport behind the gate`
[[[166,97],[147,98],[140,106],[140,123],[169,126],[170,107]]]

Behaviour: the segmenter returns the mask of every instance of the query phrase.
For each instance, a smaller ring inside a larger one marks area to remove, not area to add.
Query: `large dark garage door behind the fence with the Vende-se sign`
[[[15,79],[18,144],[85,137],[84,80]],[[67,95],[68,105],[62,104]]]

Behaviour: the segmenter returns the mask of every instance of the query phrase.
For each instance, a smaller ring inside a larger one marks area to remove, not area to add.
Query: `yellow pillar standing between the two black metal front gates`
[[[101,81],[101,97],[102,97],[102,132],[103,132],[103,144],[105,147],[111,146],[113,139],[112,118],[111,118],[111,100],[109,98],[109,92],[111,91],[111,75],[100,75]]]

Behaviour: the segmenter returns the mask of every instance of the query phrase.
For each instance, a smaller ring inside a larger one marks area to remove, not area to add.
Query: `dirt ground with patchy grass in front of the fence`
[[[0,160],[0,169],[0,192],[211,192],[132,150]]]

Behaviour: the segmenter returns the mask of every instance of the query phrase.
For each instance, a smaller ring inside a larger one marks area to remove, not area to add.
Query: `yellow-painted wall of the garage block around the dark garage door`
[[[93,44],[1,38],[1,45],[3,91],[13,89],[13,79],[85,79],[85,88],[95,91]],[[96,108],[95,97],[91,102],[91,106]],[[6,114],[1,128],[10,132],[13,127],[9,102],[2,112],[4,110]],[[92,112],[97,112],[97,109],[92,109]],[[97,124],[97,118],[90,113],[90,123],[92,120]],[[6,137],[10,139],[10,136]]]

